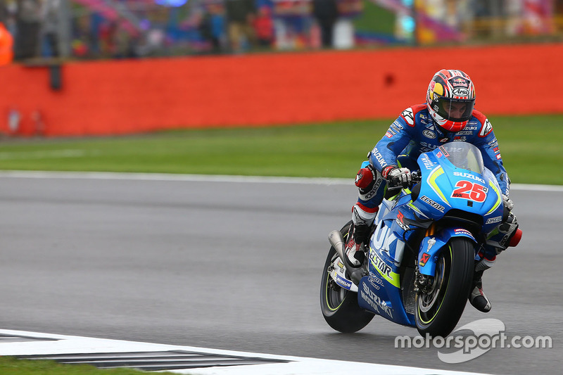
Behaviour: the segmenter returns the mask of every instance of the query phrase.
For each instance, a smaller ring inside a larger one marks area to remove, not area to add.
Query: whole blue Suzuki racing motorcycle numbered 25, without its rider
[[[417,164],[411,186],[388,186],[362,266],[343,262],[351,221],[329,234],[320,302],[336,331],[359,331],[378,314],[445,337],[462,316],[479,250],[509,212],[472,144],[444,144]]]

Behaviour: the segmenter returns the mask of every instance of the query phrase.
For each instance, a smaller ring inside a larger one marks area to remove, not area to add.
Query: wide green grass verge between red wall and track
[[[490,120],[512,182],[563,184],[563,115]],[[6,139],[0,146],[0,170],[353,178],[391,121]]]

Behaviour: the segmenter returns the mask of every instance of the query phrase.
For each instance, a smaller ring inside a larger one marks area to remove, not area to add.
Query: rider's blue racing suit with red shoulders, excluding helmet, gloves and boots
[[[432,151],[449,141],[466,141],[479,148],[485,167],[495,174],[502,193],[508,196],[510,179],[502,165],[498,141],[487,117],[474,110],[473,116],[462,130],[444,132],[430,117],[426,104],[420,104],[403,110],[383,138],[369,152],[369,163],[377,170],[377,181],[370,191],[360,190],[358,203],[353,208],[355,224],[372,224],[386,191],[386,182],[381,177],[381,171],[388,165],[397,165],[398,155],[407,155],[405,159],[402,157],[402,167],[417,169],[417,158],[421,153]]]

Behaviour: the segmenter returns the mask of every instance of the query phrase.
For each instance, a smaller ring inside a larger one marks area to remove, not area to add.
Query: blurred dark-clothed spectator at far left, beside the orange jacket
[[[39,29],[41,27],[41,1],[18,0],[16,13],[15,58],[33,58],[39,53]]]

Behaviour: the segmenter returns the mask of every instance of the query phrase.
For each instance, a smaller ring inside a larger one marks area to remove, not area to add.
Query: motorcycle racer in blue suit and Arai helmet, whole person
[[[417,165],[421,153],[432,151],[450,141],[474,144],[483,156],[485,167],[495,174],[502,192],[507,219],[488,236],[487,245],[476,262],[474,288],[469,301],[477,310],[488,312],[491,303],[483,293],[481,277],[495,262],[496,255],[508,246],[516,246],[518,231],[514,203],[509,197],[510,179],[493,132],[491,122],[474,109],[475,88],[461,70],[442,69],[432,77],[426,91],[426,103],[411,106],[395,120],[384,136],[367,155],[369,165],[360,169],[355,185],[358,201],[352,209],[352,225],[348,231],[345,262],[360,267],[365,259],[365,245],[371,226],[386,193],[387,182],[407,186],[412,181],[410,170]],[[400,163],[398,157],[400,155]]]

